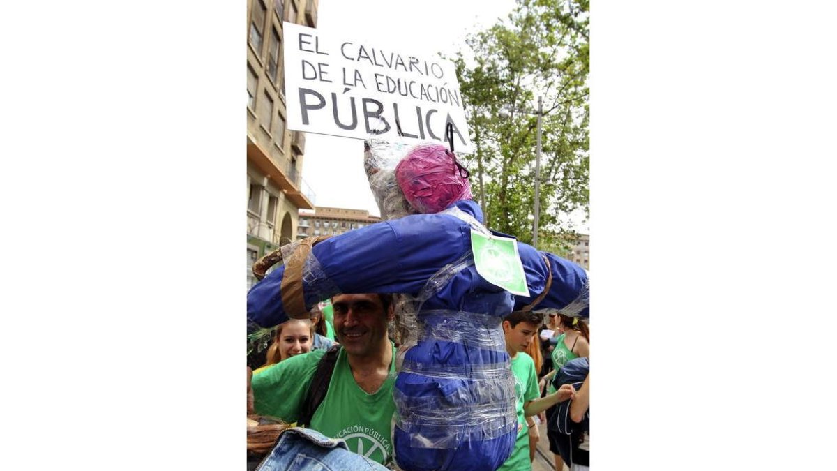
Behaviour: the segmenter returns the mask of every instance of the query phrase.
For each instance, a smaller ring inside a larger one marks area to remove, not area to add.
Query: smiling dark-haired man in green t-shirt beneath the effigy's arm
[[[391,297],[341,294],[331,299],[342,345],[325,399],[311,428],[341,438],[350,450],[386,464],[392,460],[395,412],[395,345],[388,339]],[[256,413],[295,422],[324,350],[296,355],[253,375]]]

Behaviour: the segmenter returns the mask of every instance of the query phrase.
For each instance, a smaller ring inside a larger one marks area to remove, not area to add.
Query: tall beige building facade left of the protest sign
[[[288,131],[282,22],[316,27],[319,0],[247,0],[247,280],[260,256],[295,241],[299,210],[315,195],[302,180],[306,138]]]

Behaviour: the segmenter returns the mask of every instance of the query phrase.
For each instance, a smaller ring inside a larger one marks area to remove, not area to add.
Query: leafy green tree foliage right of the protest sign
[[[541,96],[538,246],[564,246],[573,228],[558,216],[589,215],[589,2],[517,0],[507,20],[466,42],[473,52],[454,63],[476,151],[462,160],[486,225],[531,242]]]

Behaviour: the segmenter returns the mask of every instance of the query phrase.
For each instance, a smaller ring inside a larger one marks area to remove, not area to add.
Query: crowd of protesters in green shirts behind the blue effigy
[[[393,360],[397,346],[393,335],[386,329],[386,324],[392,318],[391,304],[391,297],[374,293],[335,297],[336,336],[343,339],[343,344],[332,342],[325,349],[313,347],[313,339],[318,335],[315,325],[325,322],[321,313],[319,320],[315,314],[312,321],[290,319],[277,326],[264,365],[253,371],[253,380],[249,379],[252,381],[252,389],[249,391],[253,396],[250,412],[276,417],[290,425],[305,425],[324,433],[326,437],[336,437],[341,428],[351,422],[347,415],[352,415],[352,420],[377,422],[374,427],[377,427],[378,433],[388,437],[392,432],[389,422],[393,414]],[[542,313],[516,312],[506,316],[502,323],[506,350],[511,357],[511,370],[515,376],[519,422],[516,445],[511,456],[501,466],[503,471],[531,469],[540,439],[537,426],[543,422],[557,423],[559,403],[567,402],[571,405],[567,411],[573,423],[583,422],[588,410],[589,374],[583,381],[566,380],[558,375],[564,365],[579,358],[587,361],[586,369],[589,370],[588,325],[578,321],[578,318],[550,314],[547,317],[550,323],[544,326],[544,317]],[[542,343],[539,334],[542,334],[544,327],[553,327],[555,330],[552,331],[554,335]],[[556,365],[556,368],[550,368],[546,373],[542,369],[542,344],[548,345],[549,358],[552,365]],[[304,414],[308,389],[314,381],[314,375],[318,373],[317,365],[331,346],[346,348],[342,354],[338,350],[337,362],[331,373],[330,382],[333,379],[336,385],[330,390],[334,391],[331,401],[316,407],[311,417],[300,423],[298,421],[300,415]],[[309,352],[313,353],[304,355]],[[285,362],[281,367],[269,369],[271,365],[297,356],[299,358]],[[352,386],[352,380],[359,390]],[[547,384],[548,389],[544,387]],[[369,407],[364,409],[364,406]],[[544,414],[544,411],[547,413]],[[279,437],[281,430],[275,429],[276,437]],[[564,463],[571,469],[583,469],[583,465],[588,465],[588,433],[574,431],[567,434],[559,432],[557,427],[550,427],[548,437],[557,469],[563,468]],[[391,452],[391,449],[388,450],[388,453]],[[384,453],[379,454],[386,456]],[[571,466],[572,455],[575,455],[575,468]],[[562,459],[562,456],[566,458]],[[262,461],[264,456],[258,455],[256,458],[250,460],[251,468]],[[346,459],[341,458],[342,462],[346,462]],[[388,464],[394,468],[392,462],[385,459],[379,461],[379,464]],[[374,466],[368,457],[362,459],[362,462],[366,466]]]

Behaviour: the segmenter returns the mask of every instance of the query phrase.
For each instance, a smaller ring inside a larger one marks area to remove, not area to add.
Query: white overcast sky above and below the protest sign
[[[505,18],[514,0],[320,0],[317,29],[408,54],[453,55],[465,35]],[[306,135],[302,178],[317,206],[368,210],[380,215],[363,172],[363,142]]]

